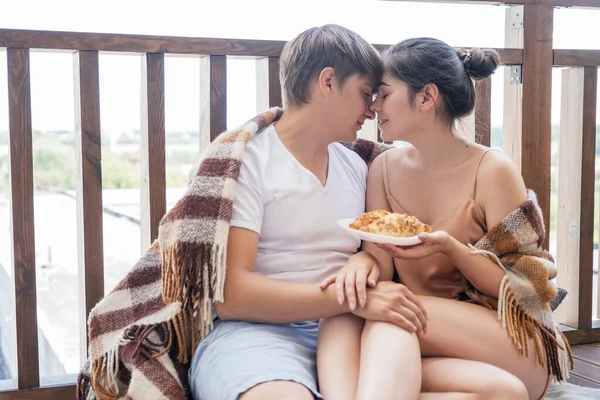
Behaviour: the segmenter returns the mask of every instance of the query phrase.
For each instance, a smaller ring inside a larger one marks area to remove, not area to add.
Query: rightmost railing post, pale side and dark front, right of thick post
[[[596,76],[592,67],[562,72],[557,284],[569,296],[556,312],[575,328],[592,327]]]

